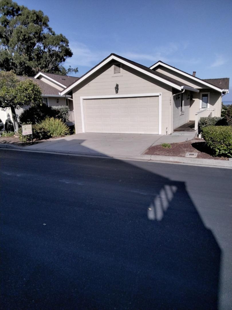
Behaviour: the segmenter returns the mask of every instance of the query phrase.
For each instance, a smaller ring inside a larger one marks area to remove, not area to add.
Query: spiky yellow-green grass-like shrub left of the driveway
[[[49,131],[52,137],[62,137],[70,134],[68,126],[58,118],[46,118],[40,123],[40,125]]]

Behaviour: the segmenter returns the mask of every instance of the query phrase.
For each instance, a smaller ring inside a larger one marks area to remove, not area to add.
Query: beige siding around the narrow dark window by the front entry
[[[221,116],[221,93],[209,90],[208,88],[200,90],[199,93],[194,93],[193,100],[190,101],[189,119],[195,120],[195,113],[200,111],[200,96],[201,93],[209,92],[209,108],[215,109],[213,116]]]

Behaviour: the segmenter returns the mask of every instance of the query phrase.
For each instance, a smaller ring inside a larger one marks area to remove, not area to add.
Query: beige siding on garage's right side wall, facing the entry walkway
[[[189,121],[189,105],[190,100],[187,99],[189,91],[184,92],[184,113],[180,114],[180,99],[177,99],[176,96],[173,96],[173,130],[178,128],[181,125],[186,124]]]

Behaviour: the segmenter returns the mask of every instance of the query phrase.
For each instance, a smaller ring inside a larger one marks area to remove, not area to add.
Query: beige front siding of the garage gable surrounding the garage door
[[[81,96],[115,95],[115,85],[118,84],[120,95],[129,94],[162,94],[162,134],[171,133],[171,106],[172,88],[159,81],[155,81],[143,73],[140,73],[126,65],[123,65],[123,72],[120,76],[113,75],[114,62],[106,64],[87,80],[73,89],[73,104],[75,114],[75,130],[82,132],[81,120]]]

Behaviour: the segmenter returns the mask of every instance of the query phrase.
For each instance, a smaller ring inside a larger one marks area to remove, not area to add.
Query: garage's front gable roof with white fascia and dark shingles
[[[166,76],[165,74],[159,73],[159,72],[155,72],[152,69],[142,65],[142,64],[138,64],[135,61],[129,60],[127,58],[124,58],[122,56],[116,55],[114,53],[110,54],[108,57],[106,57],[104,60],[102,60],[99,64],[97,64],[95,67],[93,67],[92,69],[90,69],[87,73],[85,73],[84,75],[82,75],[82,77],[80,77],[77,81],[73,82],[70,86],[68,86],[66,89],[64,89],[63,91],[60,92],[61,95],[65,95],[68,92],[70,92],[75,86],[77,86],[78,84],[80,84],[82,81],[84,81],[86,78],[88,78],[90,75],[92,75],[94,72],[96,72],[98,69],[100,69],[101,67],[103,67],[105,64],[109,63],[112,60],[116,60],[122,64],[125,64],[137,71],[140,71],[160,82],[163,82],[167,85],[170,85],[178,90],[182,90],[184,88],[186,89],[191,89],[192,91],[196,91],[198,92],[198,90],[194,89],[193,87],[187,85],[187,84],[183,84],[180,81],[175,80],[174,78],[170,78],[169,76]]]

